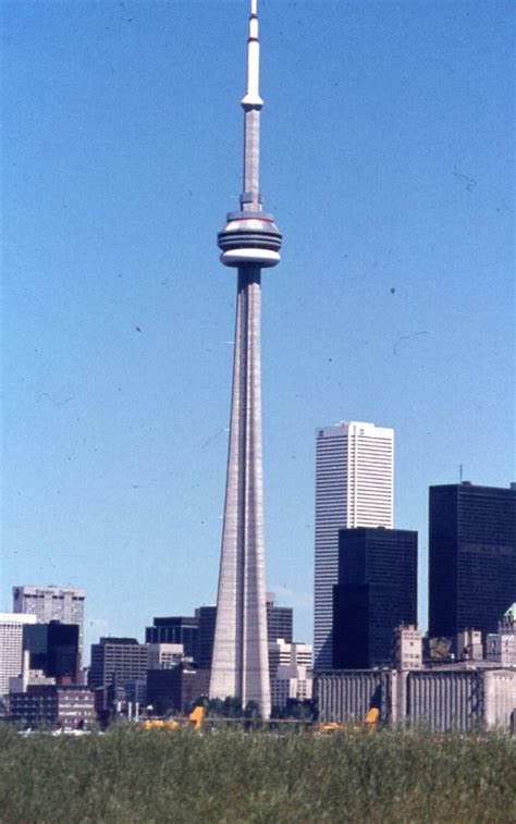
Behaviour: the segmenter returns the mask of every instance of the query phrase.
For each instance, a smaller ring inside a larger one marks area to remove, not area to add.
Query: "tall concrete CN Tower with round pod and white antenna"
[[[261,460],[261,269],[280,261],[281,233],[262,211],[259,186],[260,45],[250,2],[244,109],[244,186],[219,232],[220,259],[237,269],[235,354],[224,524],[210,698],[256,701],[270,715]]]

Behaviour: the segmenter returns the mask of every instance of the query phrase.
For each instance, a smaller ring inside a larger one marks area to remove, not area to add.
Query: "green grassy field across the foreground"
[[[0,727],[0,821],[516,822],[516,741],[430,733],[103,736]]]

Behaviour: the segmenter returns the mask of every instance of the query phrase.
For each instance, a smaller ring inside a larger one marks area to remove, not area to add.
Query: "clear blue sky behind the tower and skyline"
[[[513,5],[261,0],[268,589],[310,640],[314,440],[392,426],[395,524],[514,480]],[[2,3],[0,608],[86,640],[214,602],[248,3]]]

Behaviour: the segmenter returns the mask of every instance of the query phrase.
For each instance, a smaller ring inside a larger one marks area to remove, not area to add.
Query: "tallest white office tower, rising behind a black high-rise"
[[[339,530],[393,527],[394,430],[341,421],[316,434],[315,668],[332,666]]]

